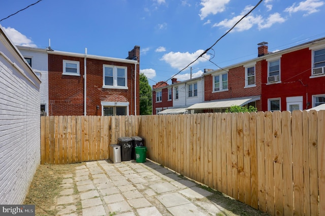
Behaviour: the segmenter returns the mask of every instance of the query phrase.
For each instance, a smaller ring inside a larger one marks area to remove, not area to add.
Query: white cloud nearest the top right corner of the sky
[[[300,2],[297,6],[294,3],[291,7],[286,8],[284,11],[288,13],[296,13],[299,11],[306,12],[304,16],[315,13],[319,11],[319,7],[323,6],[324,2],[319,0],[306,0],[305,2]]]

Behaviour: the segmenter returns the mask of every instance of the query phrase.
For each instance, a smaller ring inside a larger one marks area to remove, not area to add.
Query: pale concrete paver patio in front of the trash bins
[[[65,175],[61,187],[59,215],[78,215],[78,208],[87,216],[237,215],[212,201],[215,193],[150,160],[86,162]]]

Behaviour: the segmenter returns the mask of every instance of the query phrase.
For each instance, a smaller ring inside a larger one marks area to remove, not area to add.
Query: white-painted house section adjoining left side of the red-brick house
[[[48,54],[46,49],[18,47],[25,58],[31,58],[31,68],[41,74],[41,103],[46,104],[46,115],[49,115],[49,79],[48,79]]]

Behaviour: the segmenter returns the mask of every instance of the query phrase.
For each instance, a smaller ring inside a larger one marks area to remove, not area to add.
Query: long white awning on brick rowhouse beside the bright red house
[[[255,100],[260,100],[261,96],[251,96],[251,97],[237,97],[229,99],[214,100],[203,103],[196,103],[187,108],[187,110],[213,110],[220,108],[228,108],[233,105],[243,106],[247,103],[253,102]]]

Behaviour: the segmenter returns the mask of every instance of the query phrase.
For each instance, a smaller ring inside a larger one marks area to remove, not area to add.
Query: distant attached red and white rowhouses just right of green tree
[[[152,114],[187,114],[187,107],[203,101],[202,77],[183,82],[172,78],[172,84],[159,82],[152,86]]]

